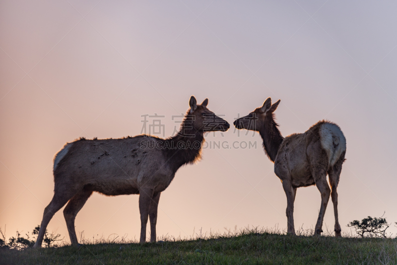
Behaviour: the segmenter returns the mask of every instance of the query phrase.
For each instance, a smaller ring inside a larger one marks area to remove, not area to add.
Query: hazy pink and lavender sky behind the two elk
[[[155,113],[171,135],[191,95],[231,124],[281,99],[284,136],[337,123],[347,141],[342,230],[384,211],[396,222],[396,13],[396,1],[2,0],[0,226],[13,236],[41,222],[66,142],[136,135],[141,115]],[[232,128],[206,140],[229,148],[212,145],[179,169],[161,195],[157,234],[286,229],[286,197],[260,135]],[[313,228],[320,203],[315,186],[298,189],[295,228]],[[94,194],[75,224],[86,238],[138,238],[138,196]],[[325,225],[333,230],[331,199]],[[68,240],[62,210],[48,229]]]

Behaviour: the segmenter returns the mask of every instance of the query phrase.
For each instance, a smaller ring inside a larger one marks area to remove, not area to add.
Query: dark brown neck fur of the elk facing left
[[[264,127],[259,131],[264,140],[263,145],[267,157],[274,162],[280,144],[284,140],[277,128],[278,124],[274,121],[273,114],[267,115]]]

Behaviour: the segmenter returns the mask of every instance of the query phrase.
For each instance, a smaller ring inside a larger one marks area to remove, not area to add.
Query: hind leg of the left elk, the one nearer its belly
[[[66,221],[67,231],[69,232],[70,243],[77,246],[77,236],[74,228],[74,219],[77,213],[84,206],[88,198],[90,198],[92,191],[82,191],[76,194],[72,199],[69,200],[65,209],[64,217]]]

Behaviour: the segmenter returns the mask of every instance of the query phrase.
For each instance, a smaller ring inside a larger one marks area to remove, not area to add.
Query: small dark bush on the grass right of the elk
[[[379,218],[368,216],[360,221],[354,220],[350,222],[348,227],[354,227],[356,233],[361,237],[378,237],[386,238],[386,229],[389,228],[390,224],[383,218],[383,215]]]

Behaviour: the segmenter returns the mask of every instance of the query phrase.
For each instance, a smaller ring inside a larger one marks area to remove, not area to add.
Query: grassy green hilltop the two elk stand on
[[[307,233],[306,233],[307,234]],[[397,240],[291,236],[256,229],[144,245],[0,250],[0,264],[397,264]]]

